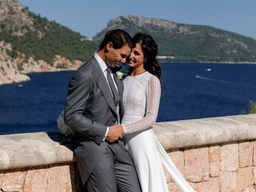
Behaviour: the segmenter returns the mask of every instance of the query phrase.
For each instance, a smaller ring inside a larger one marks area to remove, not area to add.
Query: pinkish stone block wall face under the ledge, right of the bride
[[[255,191],[256,142],[232,142],[169,152],[196,191]],[[178,191],[166,174],[170,191]]]

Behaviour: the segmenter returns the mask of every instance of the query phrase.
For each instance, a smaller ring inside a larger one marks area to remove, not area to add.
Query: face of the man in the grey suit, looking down
[[[114,67],[117,63],[125,63],[131,51],[132,49],[127,44],[119,49],[110,47],[109,53],[107,54],[108,57],[106,58],[107,64],[110,67]]]

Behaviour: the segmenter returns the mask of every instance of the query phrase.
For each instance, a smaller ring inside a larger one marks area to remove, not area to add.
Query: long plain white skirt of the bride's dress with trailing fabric
[[[169,158],[152,129],[125,134],[124,142],[134,160],[142,192],[168,191],[162,164],[181,191],[194,192]]]

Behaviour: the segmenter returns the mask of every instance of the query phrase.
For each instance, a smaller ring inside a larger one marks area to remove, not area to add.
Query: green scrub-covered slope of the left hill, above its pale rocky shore
[[[18,1],[12,1],[11,4],[0,2],[1,6],[9,6],[10,11],[0,21],[0,41],[11,43],[12,50],[8,54],[12,58],[23,53],[26,58],[33,56],[34,60],[45,60],[49,64],[53,63],[55,55],[71,61],[87,60],[97,48],[96,43],[80,33],[33,14],[26,7],[16,11],[15,6],[21,6]],[[26,18],[26,21],[22,18]]]

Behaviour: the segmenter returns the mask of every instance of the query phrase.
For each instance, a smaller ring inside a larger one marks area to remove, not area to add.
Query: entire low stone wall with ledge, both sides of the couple
[[[196,191],[255,191],[256,114],[161,122],[154,132]],[[1,191],[76,191],[75,157],[65,137],[3,135],[0,144]],[[178,191],[168,174],[166,181],[169,191]]]

